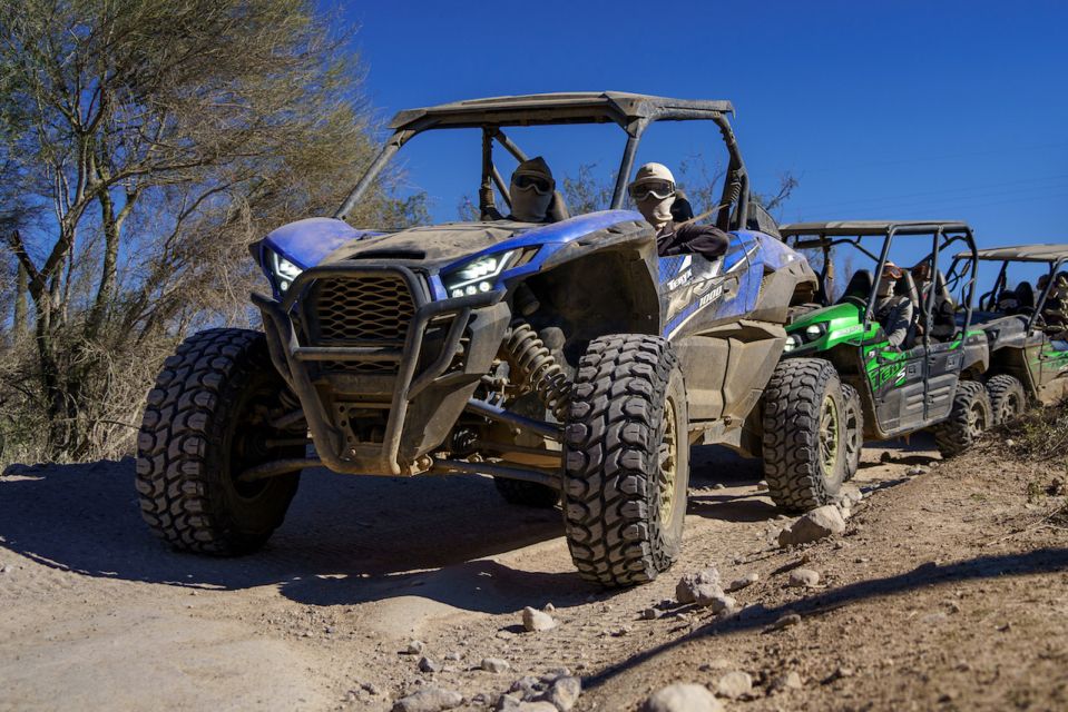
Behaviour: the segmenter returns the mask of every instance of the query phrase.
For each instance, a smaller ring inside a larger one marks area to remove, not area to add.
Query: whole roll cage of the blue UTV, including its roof
[[[493,165],[493,144],[500,144],[516,160],[526,154],[504,132],[509,126],[551,126],[572,123],[616,123],[627,132],[627,144],[619,161],[619,171],[611,195],[610,208],[623,207],[626,187],[638,151],[638,144],[649,125],[656,121],[713,121],[719,128],[729,160],[719,206],[722,210],[736,204],[721,227],[737,229],[748,220],[749,178],[742,160],[734,130],[727,115],[734,113],[729,101],[670,99],[617,91],[529,95],[472,99],[424,109],[399,112],[390,122],[393,135],[368,167],[360,181],[350,191],[334,214],[344,219],[368,191],[390,159],[419,134],[439,129],[479,128],[482,130],[482,177],[479,186],[479,208],[484,215],[493,205],[493,187],[509,205],[508,184]]]

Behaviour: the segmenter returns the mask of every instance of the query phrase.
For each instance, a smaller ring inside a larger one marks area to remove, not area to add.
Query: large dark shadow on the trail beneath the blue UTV
[[[310,471],[264,550],[212,558],[170,551],[149,534],[133,459],[41,466],[0,478],[0,545],[43,565],[175,586],[278,585],[310,604],[419,595],[500,612],[529,604],[532,591],[558,606],[578,603],[595,590],[571,571],[566,550],[551,572],[484,561],[561,534],[559,510],[506,504],[488,478]]]

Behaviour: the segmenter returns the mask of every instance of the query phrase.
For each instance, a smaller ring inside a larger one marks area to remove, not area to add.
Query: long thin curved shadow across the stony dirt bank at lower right
[[[820,615],[868,599],[889,596],[929,586],[947,586],[978,578],[1049,574],[1066,570],[1068,570],[1068,548],[1040,548],[1027,553],[979,556],[952,564],[927,563],[896,576],[860,581],[781,606],[765,607],[757,604],[744,609],[732,617],[713,621],[677,640],[641,651],[596,675],[584,679],[582,688],[591,690],[604,685],[633,668],[650,662],[696,640],[735,632],[773,633],[774,624],[783,616],[792,613],[798,614],[802,617],[801,625],[804,625],[806,616]]]

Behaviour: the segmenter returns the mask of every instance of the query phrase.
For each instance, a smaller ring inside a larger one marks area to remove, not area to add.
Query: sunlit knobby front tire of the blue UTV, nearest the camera
[[[686,388],[672,345],[590,342],[565,424],[564,521],[579,574],[605,586],[656,578],[678,557],[689,484]]]

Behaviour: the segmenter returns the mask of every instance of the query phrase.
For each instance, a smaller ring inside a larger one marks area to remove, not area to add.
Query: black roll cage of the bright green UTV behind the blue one
[[[805,248],[822,248],[823,249],[823,268],[821,270],[821,285],[825,285],[823,281],[824,277],[827,274],[829,267],[831,264],[831,248],[835,245],[851,245],[869,257],[871,257],[876,263],[876,269],[873,274],[872,279],[872,290],[868,295],[868,301],[864,308],[864,330],[866,332],[871,325],[872,313],[875,307],[876,295],[879,293],[879,276],[882,275],[883,268],[886,266],[888,257],[890,255],[890,245],[893,243],[894,237],[925,237],[931,236],[932,238],[932,250],[923,257],[920,261],[930,260],[932,267],[938,265],[939,254],[947,249],[953,243],[958,240],[963,241],[968,248],[967,253],[959,253],[954,256],[953,263],[950,265],[950,274],[953,274],[958,260],[969,260],[971,264],[971,275],[969,277],[967,289],[967,303],[968,307],[964,313],[964,323],[961,326],[961,334],[964,335],[968,333],[968,327],[971,325],[972,316],[972,306],[973,298],[976,293],[976,280],[978,275],[979,267],[979,256],[978,249],[976,248],[976,238],[972,234],[971,227],[964,222],[943,222],[943,221],[930,221],[930,222],[920,222],[920,221],[901,221],[901,222],[813,222],[813,224],[796,224],[796,225],[785,225],[780,228],[780,233],[783,236],[783,241],[788,243],[790,238],[796,238],[794,241],[795,249],[805,249]],[[814,237],[816,239],[803,240],[804,237]],[[829,239],[832,237],[839,237],[842,239]],[[865,247],[862,247],[860,241],[863,237],[882,237],[883,245],[882,249],[876,257],[873,253],[868,250]],[[944,245],[942,244],[943,238],[945,238]],[[932,270],[933,271],[933,270]],[[964,276],[964,271],[961,271],[961,276],[957,278],[956,281],[959,281],[960,278]],[[956,284],[954,281],[954,284]],[[947,284],[949,283],[949,277],[947,277]],[[825,290],[825,287],[821,287],[822,290]],[[923,325],[923,346],[929,348],[931,345],[931,320],[934,318],[934,297],[935,289],[930,289],[927,296],[927,304],[924,305],[923,314],[925,318],[925,324]],[[830,295],[826,296],[830,299]]]

